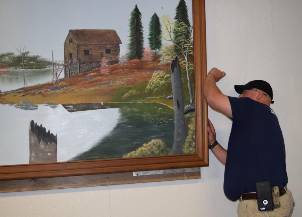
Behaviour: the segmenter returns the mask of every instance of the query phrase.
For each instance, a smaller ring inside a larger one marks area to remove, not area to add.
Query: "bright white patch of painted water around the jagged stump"
[[[23,110],[13,105],[0,105],[0,165],[28,164],[29,127],[38,125],[57,134],[57,161],[68,161],[110,134],[118,123],[119,108],[68,112],[39,105],[36,110]]]

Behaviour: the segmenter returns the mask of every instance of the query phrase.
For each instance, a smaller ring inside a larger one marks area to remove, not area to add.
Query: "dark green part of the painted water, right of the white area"
[[[160,103],[104,103],[120,108],[116,127],[90,150],[72,160],[121,158],[154,139],[173,146],[174,118],[172,108]]]

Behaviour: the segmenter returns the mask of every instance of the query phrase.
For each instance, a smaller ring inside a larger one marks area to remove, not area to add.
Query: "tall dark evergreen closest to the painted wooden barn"
[[[128,44],[129,59],[141,59],[144,52],[144,37],[143,37],[143,25],[142,14],[135,5],[130,17],[130,43]]]

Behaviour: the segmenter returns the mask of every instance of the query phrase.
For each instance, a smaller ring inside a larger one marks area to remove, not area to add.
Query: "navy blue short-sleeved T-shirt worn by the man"
[[[270,180],[283,188],[288,182],[285,147],[275,112],[250,98],[230,97],[233,124],[227,148],[223,189],[237,200],[255,192],[255,183]]]

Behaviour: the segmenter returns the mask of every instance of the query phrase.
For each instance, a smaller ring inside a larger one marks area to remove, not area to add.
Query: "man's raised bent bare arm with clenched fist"
[[[216,86],[216,82],[226,75],[225,72],[213,68],[206,77],[203,92],[207,103],[215,110],[232,118],[232,109],[229,98]]]

